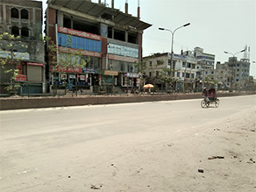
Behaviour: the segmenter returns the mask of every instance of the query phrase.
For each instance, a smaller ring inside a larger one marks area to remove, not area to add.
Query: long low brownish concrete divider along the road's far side
[[[218,93],[222,96],[252,95],[254,92]],[[170,95],[131,95],[131,96],[77,96],[77,97],[10,97],[0,98],[0,110],[20,110],[49,107],[67,107],[81,105],[111,104],[111,103],[139,103],[153,101],[168,101],[180,99],[202,98],[201,93],[170,94]]]

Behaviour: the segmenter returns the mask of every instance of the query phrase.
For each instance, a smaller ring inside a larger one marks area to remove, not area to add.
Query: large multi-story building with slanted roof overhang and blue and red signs
[[[138,8],[139,13],[139,8]],[[48,0],[46,10],[46,36],[62,50],[81,50],[83,58],[89,58],[84,67],[54,68],[49,60],[49,76],[52,84],[68,82],[92,92],[99,85],[117,87],[139,86],[139,74],[134,67],[142,58],[142,34],[151,25],[138,17],[111,7],[92,3],[80,4],[69,0]],[[71,45],[67,46],[71,37]],[[61,75],[61,73],[66,75]],[[64,76],[64,78],[63,78]],[[53,81],[54,80],[54,81]]]

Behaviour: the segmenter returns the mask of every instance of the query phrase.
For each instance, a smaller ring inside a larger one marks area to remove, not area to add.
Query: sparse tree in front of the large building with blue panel
[[[65,47],[57,46],[51,38],[44,37],[43,40],[48,42],[48,57],[49,63],[54,66],[55,68],[55,75],[58,73],[61,76],[67,76],[67,69],[68,68],[82,68],[87,65],[90,60],[89,56],[84,56],[82,54],[82,49],[76,50],[72,49],[72,35],[68,35],[67,44]],[[54,78],[54,91],[53,95],[57,95],[57,81]],[[67,82],[65,82],[65,94],[67,90]],[[77,81],[75,81],[75,95],[77,96]]]

